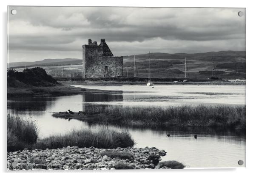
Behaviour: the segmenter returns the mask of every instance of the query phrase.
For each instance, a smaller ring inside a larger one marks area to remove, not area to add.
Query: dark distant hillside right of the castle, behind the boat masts
[[[245,79],[245,51],[204,53],[160,53],[135,55],[137,74],[148,77],[148,57],[151,58],[152,77],[184,77],[185,58],[191,78],[208,78],[212,74],[223,79]],[[134,75],[134,55],[124,56],[124,76]]]

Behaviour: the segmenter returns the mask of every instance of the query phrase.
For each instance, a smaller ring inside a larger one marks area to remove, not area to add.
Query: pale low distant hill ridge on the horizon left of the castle
[[[23,68],[31,66],[60,66],[60,65],[77,65],[82,62],[82,59],[64,58],[64,59],[44,59],[35,62],[12,62],[9,63],[9,68]]]

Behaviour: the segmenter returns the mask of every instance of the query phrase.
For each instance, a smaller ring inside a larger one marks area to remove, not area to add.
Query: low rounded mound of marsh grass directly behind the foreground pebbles
[[[66,135],[53,135],[36,143],[34,148],[54,149],[66,146],[97,147],[97,148],[125,148],[134,146],[134,140],[128,131],[118,132],[102,127],[98,132],[91,129],[73,129]]]

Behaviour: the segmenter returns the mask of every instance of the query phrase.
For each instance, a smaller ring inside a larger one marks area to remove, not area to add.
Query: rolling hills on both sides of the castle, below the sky
[[[134,76],[134,55],[123,56],[123,76]],[[136,74],[138,77],[148,77],[148,54],[135,55]],[[214,76],[222,79],[245,79],[245,51],[219,51],[204,53],[150,53],[151,75],[152,77],[184,77],[185,58],[190,78],[208,78],[212,74],[213,62],[215,65]],[[64,65],[64,75],[70,77],[71,73],[82,71],[82,60],[65,59],[45,59],[36,62],[9,63],[9,67],[14,69],[40,66],[46,70],[47,74],[53,77],[62,76],[62,65]],[[70,66],[72,65],[72,66]]]

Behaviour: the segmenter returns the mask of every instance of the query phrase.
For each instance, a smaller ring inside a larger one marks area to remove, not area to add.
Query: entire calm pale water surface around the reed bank
[[[182,104],[245,104],[245,85],[143,85],[100,86],[75,85],[82,88],[115,91],[58,97],[15,97],[7,101],[8,112],[37,121],[40,137],[64,134],[71,129],[91,128],[99,125],[72,119],[54,118],[53,112],[86,111],[92,107],[104,110],[107,105],[169,106]],[[119,127],[110,126],[113,129]],[[120,129],[122,130],[122,129]],[[136,141],[135,147],[152,147],[167,151],[163,160],[177,160],[187,167],[244,167],[245,135],[218,129],[129,129]],[[171,134],[167,137],[166,134]],[[198,138],[194,139],[193,135]]]

